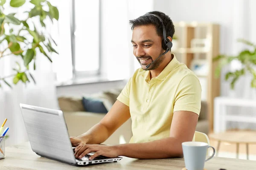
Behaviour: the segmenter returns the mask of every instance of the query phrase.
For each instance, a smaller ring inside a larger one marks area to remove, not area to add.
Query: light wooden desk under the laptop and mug
[[[6,158],[0,159],[0,170],[182,170],[183,158],[139,160],[124,157],[117,163],[75,167],[36,155],[30,144],[6,147]],[[207,170],[254,170],[256,161],[214,157],[205,163]]]

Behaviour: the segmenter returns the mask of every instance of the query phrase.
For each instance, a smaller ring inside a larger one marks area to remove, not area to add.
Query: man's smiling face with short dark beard
[[[148,69],[146,68],[146,65],[153,62],[164,51],[162,48],[162,37],[157,35],[155,26],[135,27],[131,43],[134,47],[133,53],[143,70],[154,70],[163,62],[165,56],[157,59]]]

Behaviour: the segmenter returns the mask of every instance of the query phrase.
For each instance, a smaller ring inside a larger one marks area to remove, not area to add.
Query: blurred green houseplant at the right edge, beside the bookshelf
[[[256,66],[256,45],[244,39],[238,39],[237,41],[248,45],[251,49],[247,48],[236,56],[227,56],[221,54],[213,58],[213,61],[219,61],[218,67],[215,70],[215,76],[219,77],[221,68],[223,68],[225,65],[230,64],[230,62],[233,60],[238,60],[241,62],[243,67],[239,70],[229,71],[227,74],[225,74],[226,81],[231,79],[230,88],[234,89],[236,81],[239,79],[239,77],[244,76],[246,73],[252,75],[250,86],[252,88],[256,88],[256,71],[253,69],[253,67]]]

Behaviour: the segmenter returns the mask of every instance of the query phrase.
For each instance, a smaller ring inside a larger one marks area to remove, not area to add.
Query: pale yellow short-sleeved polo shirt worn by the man
[[[199,116],[200,82],[172,55],[172,61],[155,78],[150,79],[150,71],[137,69],[117,97],[130,108],[133,133],[130,143],[169,137],[175,111],[192,111]]]

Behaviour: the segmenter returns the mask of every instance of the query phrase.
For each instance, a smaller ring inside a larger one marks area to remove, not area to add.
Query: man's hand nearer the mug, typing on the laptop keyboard
[[[101,144],[79,144],[75,149],[75,157],[81,159],[86,154],[90,152],[95,152],[93,156],[90,156],[90,160],[96,158],[97,156],[107,156],[110,158],[119,156],[119,150],[116,146],[108,146]]]

